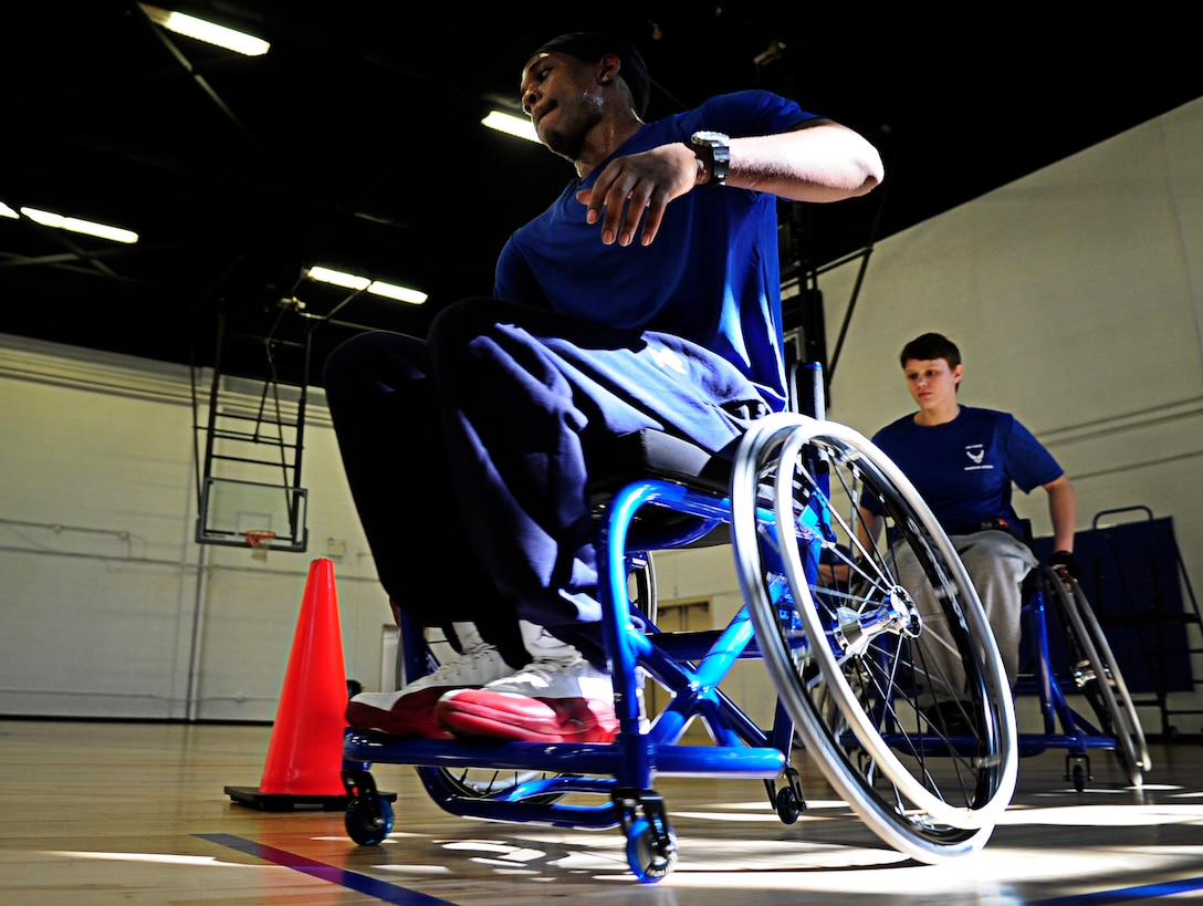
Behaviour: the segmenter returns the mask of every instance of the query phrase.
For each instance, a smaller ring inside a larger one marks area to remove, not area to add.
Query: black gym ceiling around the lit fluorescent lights
[[[873,16],[736,0],[598,4],[577,17],[549,16],[549,4],[171,6],[272,49],[245,58],[170,35],[124,0],[25,4],[6,25],[0,201],[141,239],[0,218],[0,332],[212,365],[221,327],[221,367],[242,373],[269,355],[295,371],[308,336],[314,383],[351,331],[425,332],[440,306],[490,292],[509,231],[573,176],[546,149],[479,125],[494,102],[514,105],[527,52],[564,30],[606,24],[634,39],[652,118],[765,87],[877,143],[881,190],[793,213],[807,267],[1203,96],[1187,24],[1160,14]],[[319,263],[429,302],[302,282]],[[303,312],[280,304],[290,298]]]

